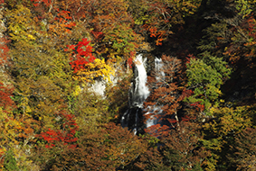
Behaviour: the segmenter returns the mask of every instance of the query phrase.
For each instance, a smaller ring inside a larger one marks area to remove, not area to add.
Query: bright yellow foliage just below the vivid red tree
[[[83,82],[93,83],[95,78],[103,77],[104,80],[111,82],[110,76],[114,74],[114,68],[106,64],[104,59],[96,58],[93,63],[87,64],[84,69],[75,73],[73,78]]]

